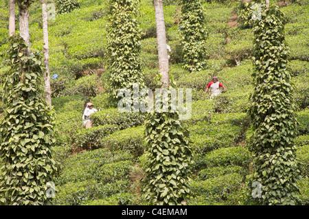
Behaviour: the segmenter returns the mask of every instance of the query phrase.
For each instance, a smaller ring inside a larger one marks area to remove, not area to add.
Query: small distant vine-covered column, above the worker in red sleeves
[[[205,66],[205,14],[200,0],[183,0],[181,7],[181,34],[183,35],[184,68],[190,72]]]

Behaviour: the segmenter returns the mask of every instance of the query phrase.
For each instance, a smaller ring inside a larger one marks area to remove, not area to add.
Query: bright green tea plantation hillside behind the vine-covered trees
[[[253,134],[247,115],[253,92],[253,31],[240,19],[240,1],[203,1],[207,29],[207,66],[189,73],[183,68],[181,6],[164,1],[170,76],[175,88],[192,88],[192,116],[184,120],[194,153],[192,195],[187,205],[251,205],[247,175],[252,157],[248,149]],[[286,18],[288,62],[297,103],[297,159],[301,164],[299,188],[309,205],[309,5],[306,0],[271,0]],[[107,0],[78,1],[80,7],[56,14],[49,21],[49,65],[52,105],[56,112],[58,162],[54,205],[148,205],[141,198],[141,179],[148,157],[144,154],[142,113],[120,113],[108,96],[110,85],[104,58],[107,43]],[[8,49],[8,5],[0,3],[0,50]],[[16,12],[17,13],[17,12]],[[18,13],[17,13],[18,14]],[[151,0],[141,0],[137,21],[142,33],[141,59],[147,88],[156,88],[159,74],[155,10]],[[18,25],[16,25],[18,27]],[[32,49],[43,50],[41,6],[30,8]],[[0,62],[0,76],[8,70]],[[209,99],[205,88],[212,77],[227,88]],[[2,92],[2,90],[0,90]],[[100,112],[91,115],[93,127],[84,129],[82,114],[91,101]],[[3,112],[0,102],[0,113]],[[0,114],[1,120],[1,114]]]

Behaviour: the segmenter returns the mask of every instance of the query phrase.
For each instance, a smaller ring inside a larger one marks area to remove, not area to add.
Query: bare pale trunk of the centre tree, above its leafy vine
[[[163,1],[153,0],[155,6],[155,18],[157,26],[157,47],[159,55],[159,70],[162,75],[161,82],[162,87],[168,88],[169,86],[169,66],[168,66],[168,49],[166,47],[166,33],[165,33],[165,22],[163,14]]]

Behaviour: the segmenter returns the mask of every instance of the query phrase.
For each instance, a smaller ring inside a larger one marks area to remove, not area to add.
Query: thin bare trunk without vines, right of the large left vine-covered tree
[[[48,44],[48,21],[46,2],[42,2],[42,18],[43,18],[43,53],[44,53],[44,82],[45,82],[45,98],[49,105],[52,105],[52,91],[50,89],[49,75],[49,44]]]

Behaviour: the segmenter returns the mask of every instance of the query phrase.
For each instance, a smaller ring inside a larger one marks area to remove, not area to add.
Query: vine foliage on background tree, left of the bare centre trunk
[[[108,71],[113,96],[122,88],[133,90],[133,83],[144,87],[141,70],[141,31],[137,23],[137,0],[111,0],[108,16]]]

